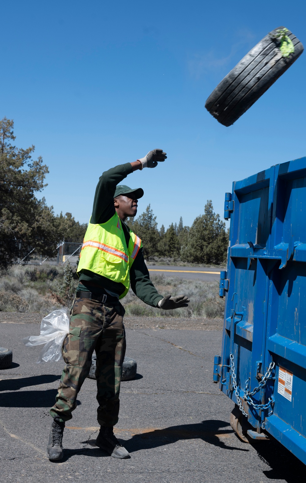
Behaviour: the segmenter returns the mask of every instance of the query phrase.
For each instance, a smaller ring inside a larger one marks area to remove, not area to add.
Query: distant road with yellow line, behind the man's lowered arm
[[[171,267],[169,265],[147,265],[151,274],[162,273],[166,277],[180,277],[184,279],[198,279],[204,282],[213,282],[220,279],[220,270],[206,267]]]

